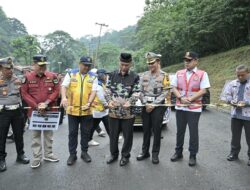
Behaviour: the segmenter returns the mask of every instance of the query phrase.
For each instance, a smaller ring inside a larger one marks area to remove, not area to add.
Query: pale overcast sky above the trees
[[[96,22],[108,24],[103,33],[121,30],[142,16],[145,0],[0,0],[8,17],[19,19],[30,34],[55,30],[72,37],[98,35]]]

